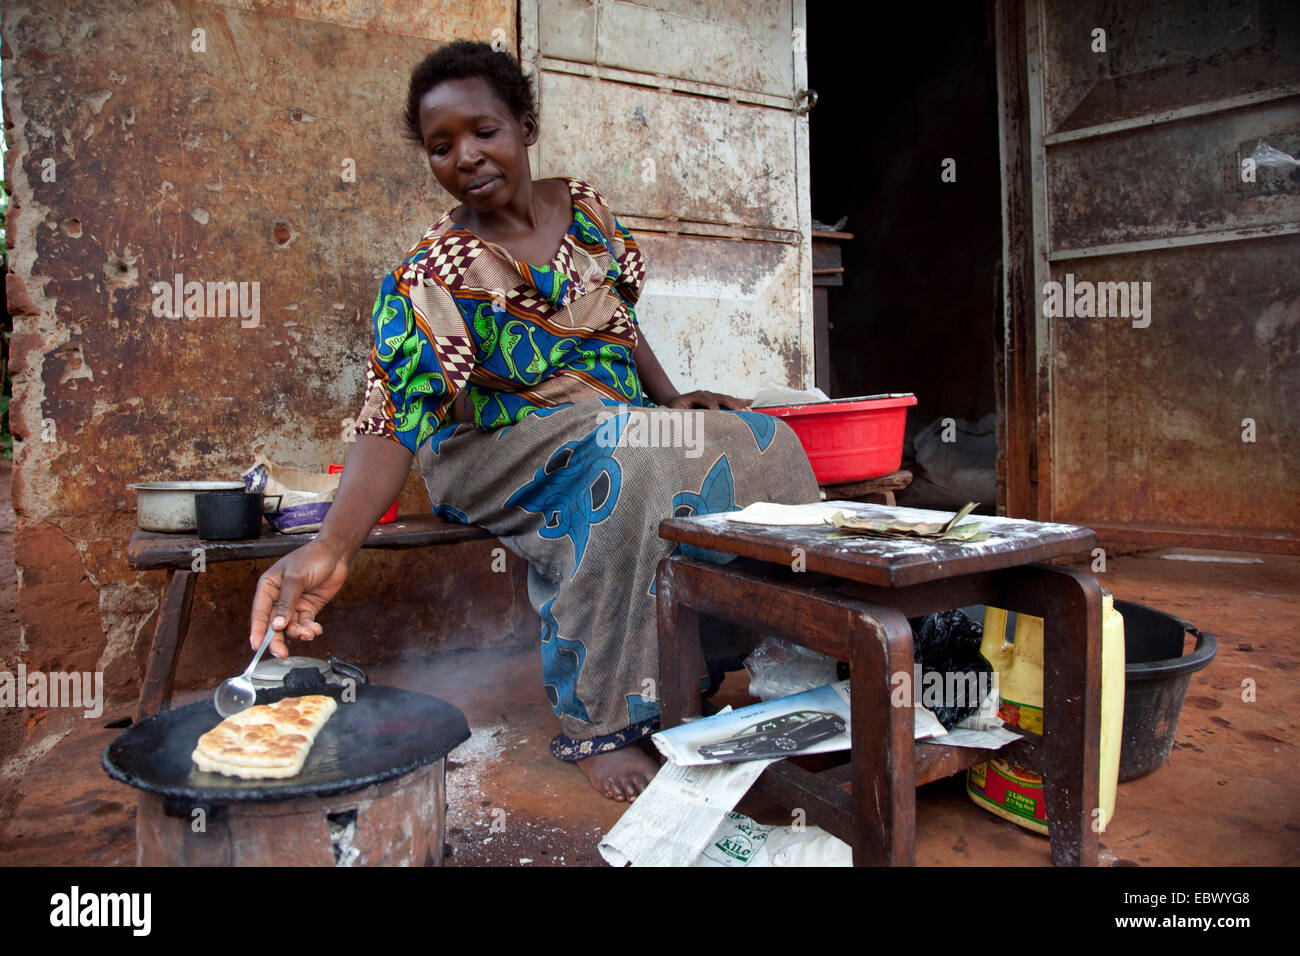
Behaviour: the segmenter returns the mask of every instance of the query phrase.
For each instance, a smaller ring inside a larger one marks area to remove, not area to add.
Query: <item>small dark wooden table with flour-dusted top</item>
[[[868,516],[935,512],[842,502]],[[741,524],[722,515],[671,518],[670,541],[740,555],[659,564],[659,708],[664,728],[699,714],[699,614],[829,654],[850,666],[852,761],[811,773],[790,761],[757,788],[853,847],[855,865],[915,864],[915,788],[998,756],[1044,777],[1057,865],[1096,865],[1101,736],[1101,589],[1087,572],[1037,562],[1079,555],[1092,531],[972,516],[992,532],[972,545],[832,538],[829,527]],[[806,570],[797,570],[797,568]],[[913,678],[907,618],[987,604],[1045,622],[1043,735],[1000,750],[913,739],[911,701],[890,706],[897,674]]]

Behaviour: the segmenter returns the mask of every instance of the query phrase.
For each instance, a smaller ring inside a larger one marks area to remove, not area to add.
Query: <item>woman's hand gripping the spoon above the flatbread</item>
[[[270,653],[287,657],[285,636],[309,641],[320,635],[324,628],[316,615],[338,594],[346,579],[347,559],[320,538],[286,554],[257,579],[250,644],[261,646],[272,622],[276,635],[270,639]]]

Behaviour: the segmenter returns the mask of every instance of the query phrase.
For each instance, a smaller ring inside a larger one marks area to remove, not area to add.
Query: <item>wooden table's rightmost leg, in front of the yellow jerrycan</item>
[[[1005,607],[1044,620],[1043,793],[1057,866],[1096,866],[1101,763],[1101,588],[1087,571],[1009,572]]]

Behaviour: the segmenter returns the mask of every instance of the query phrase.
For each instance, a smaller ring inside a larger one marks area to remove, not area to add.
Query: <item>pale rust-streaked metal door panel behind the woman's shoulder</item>
[[[540,78],[536,174],[582,177],[637,237],[637,319],[681,392],[814,382],[803,7],[520,7]]]

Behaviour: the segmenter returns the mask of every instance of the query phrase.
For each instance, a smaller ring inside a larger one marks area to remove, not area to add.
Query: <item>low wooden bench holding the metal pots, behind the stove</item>
[[[445,522],[433,515],[402,515],[390,524],[377,524],[365,538],[363,548],[408,549],[451,545],[491,537],[491,532],[472,524]],[[140,684],[140,700],[135,719],[166,710],[172,705],[172,684],[176,682],[176,662],[190,628],[190,607],[194,605],[194,584],[199,572],[195,566],[224,561],[255,561],[278,558],[302,548],[316,535],[281,535],[264,525],[261,537],[242,541],[204,541],[196,535],[166,535],[136,531],[126,548],[127,563],[138,570],[165,568],[166,584],[162,604],[153,630]]]

